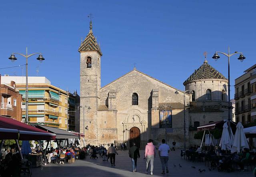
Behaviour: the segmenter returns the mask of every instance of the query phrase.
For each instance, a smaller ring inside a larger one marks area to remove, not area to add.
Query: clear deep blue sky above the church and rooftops
[[[28,76],[45,76],[51,84],[80,93],[81,37],[92,31],[102,50],[101,86],[136,69],[174,88],[204,62],[228,78],[228,58],[217,62],[215,51],[242,52],[230,57],[230,85],[256,64],[256,1],[238,0],[44,0],[3,1],[0,4],[0,68],[26,64],[12,52],[42,53],[28,58]],[[25,76],[25,66],[0,69],[0,74]],[[231,98],[234,87],[231,87]]]

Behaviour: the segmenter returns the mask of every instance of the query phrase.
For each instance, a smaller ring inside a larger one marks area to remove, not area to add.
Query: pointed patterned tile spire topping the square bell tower
[[[81,43],[80,48],[78,49],[78,52],[86,51],[98,51],[102,56],[100,46],[98,45],[97,40],[92,33],[92,21],[90,22],[90,32],[88,33],[84,41]]]

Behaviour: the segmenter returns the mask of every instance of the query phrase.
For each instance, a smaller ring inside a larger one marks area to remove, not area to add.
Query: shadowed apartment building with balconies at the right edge
[[[235,79],[236,122],[252,123],[256,119],[256,64]]]

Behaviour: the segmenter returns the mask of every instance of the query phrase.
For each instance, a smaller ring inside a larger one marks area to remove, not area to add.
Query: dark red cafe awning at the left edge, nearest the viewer
[[[9,133],[5,129],[9,129]],[[2,133],[5,133],[6,136],[2,137]],[[0,139],[18,139],[18,133],[20,133],[19,140],[55,140],[56,136],[54,133],[32,127],[15,119],[0,117]]]

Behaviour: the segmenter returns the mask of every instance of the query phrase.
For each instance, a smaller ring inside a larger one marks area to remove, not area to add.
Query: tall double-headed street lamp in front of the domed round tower
[[[230,72],[229,72],[229,57],[231,57],[234,54],[240,54],[240,56],[238,57],[238,60],[240,60],[240,62],[243,62],[245,57],[243,56],[242,52],[235,52],[234,54],[229,54],[229,47],[228,47],[228,54],[225,54],[223,52],[215,52],[214,56],[212,57],[215,61],[217,61],[220,57],[218,56],[217,53],[223,54],[225,56],[228,57],[228,133],[229,136],[231,134],[230,131],[230,122],[231,122],[231,105],[230,105]]]

